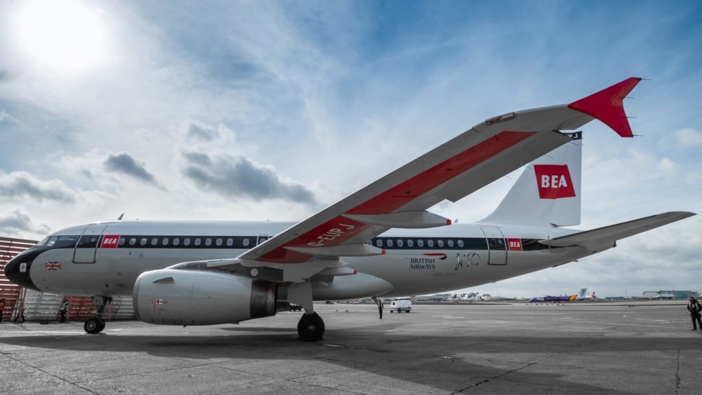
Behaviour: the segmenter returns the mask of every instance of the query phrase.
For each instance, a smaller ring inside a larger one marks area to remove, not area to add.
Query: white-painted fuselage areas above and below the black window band
[[[51,236],[82,235],[140,235],[152,242],[150,236],[263,236],[272,237],[293,223],[283,222],[186,222],[186,221],[117,221],[76,226],[53,233]],[[575,231],[543,226],[515,226],[508,224],[453,224],[432,229],[391,229],[379,238],[486,238],[484,227],[509,239],[546,239]],[[501,237],[498,235],[498,237]],[[181,239],[182,240],[182,239]],[[140,242],[140,240],[138,240]],[[158,240],[159,244],[161,240]],[[180,241],[182,242],[182,241]],[[213,246],[215,240],[212,241]],[[109,243],[109,242],[108,242]],[[516,248],[512,240],[512,248]],[[253,247],[253,244],[249,246]],[[457,247],[457,245],[454,245]],[[493,283],[538,271],[542,268],[565,264],[595,252],[611,248],[602,245],[597,250],[583,247],[561,247],[543,250],[468,250],[434,245],[423,250],[398,250],[384,245],[386,254],[375,257],[340,257],[348,267],[359,273],[381,278],[392,284],[385,296],[430,294]],[[82,251],[81,251],[82,250]],[[128,240],[116,248],[92,249],[57,248],[42,252],[30,268],[30,276],[39,290],[55,294],[112,296],[131,294],[136,278],[145,271],[165,268],[185,261],[234,258],[248,248],[174,248],[130,247]],[[75,255],[74,255],[75,254]],[[83,254],[83,257],[79,257]],[[431,255],[427,255],[431,254]],[[442,259],[442,257],[445,258]],[[91,263],[77,263],[76,261]],[[60,263],[60,270],[48,270],[46,262]],[[368,295],[373,296],[373,295]],[[339,295],[343,298],[343,295]],[[328,295],[324,299],[329,298]]]

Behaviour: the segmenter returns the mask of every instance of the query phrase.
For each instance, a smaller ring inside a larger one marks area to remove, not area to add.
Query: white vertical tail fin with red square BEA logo
[[[580,224],[583,134],[567,135],[571,141],[527,165],[497,209],[480,222]]]

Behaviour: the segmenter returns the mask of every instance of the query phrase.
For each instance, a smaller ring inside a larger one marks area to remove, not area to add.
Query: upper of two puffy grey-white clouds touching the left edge
[[[8,174],[0,171],[0,196],[32,197],[39,202],[74,202],[74,195],[75,191],[58,179],[42,181],[27,171],[13,171]]]

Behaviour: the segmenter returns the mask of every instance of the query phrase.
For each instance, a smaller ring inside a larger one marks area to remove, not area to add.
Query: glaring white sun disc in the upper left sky
[[[27,1],[14,18],[16,44],[35,66],[81,72],[105,61],[108,31],[102,12],[81,1]]]

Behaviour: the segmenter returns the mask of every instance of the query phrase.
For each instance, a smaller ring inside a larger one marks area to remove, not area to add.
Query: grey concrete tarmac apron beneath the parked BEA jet
[[[319,304],[206,327],[0,323],[1,394],[701,394],[686,301]]]

